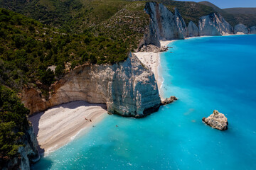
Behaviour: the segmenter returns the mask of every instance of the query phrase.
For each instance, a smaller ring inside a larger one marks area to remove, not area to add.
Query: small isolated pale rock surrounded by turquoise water
[[[225,117],[223,113],[219,113],[214,110],[208,118],[203,118],[203,122],[210,125],[212,128],[218,130],[228,130],[228,118]]]

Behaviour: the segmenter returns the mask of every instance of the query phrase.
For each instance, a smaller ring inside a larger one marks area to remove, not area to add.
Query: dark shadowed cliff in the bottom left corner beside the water
[[[30,169],[31,163],[37,162],[40,159],[40,154],[38,153],[38,142],[32,126],[28,127],[25,135],[21,138],[21,142],[24,146],[18,148],[18,154],[20,157],[14,157],[7,162],[4,167],[2,167],[3,170]]]

